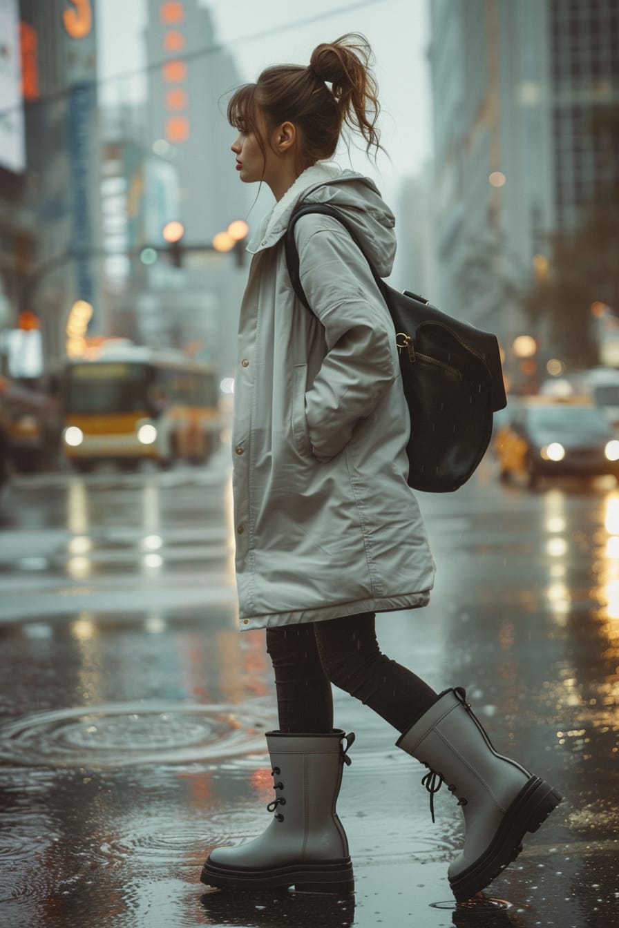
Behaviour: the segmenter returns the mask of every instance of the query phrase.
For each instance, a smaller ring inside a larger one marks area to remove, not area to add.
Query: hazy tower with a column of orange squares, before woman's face
[[[197,0],[148,0],[144,39],[148,240],[161,244],[162,227],[178,220],[185,230],[180,251],[187,254],[180,268],[159,261],[149,268],[136,302],[137,329],[147,343],[185,348],[230,374],[246,273],[235,260],[240,251],[200,253],[200,246],[212,248],[213,237],[245,219],[251,206],[251,191],[234,171],[234,132],[226,121],[226,93],[239,84],[239,73]],[[174,171],[174,192],[165,164]]]

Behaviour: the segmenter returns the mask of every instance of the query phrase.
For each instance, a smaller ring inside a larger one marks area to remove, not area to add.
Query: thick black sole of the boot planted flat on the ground
[[[218,867],[206,861],[200,875],[201,883],[221,889],[288,889],[294,886],[304,893],[353,893],[355,880],[350,857],[321,863],[289,864],[271,870],[234,870]]]

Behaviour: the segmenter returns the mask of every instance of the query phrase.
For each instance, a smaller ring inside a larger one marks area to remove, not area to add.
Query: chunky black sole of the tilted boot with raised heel
[[[457,902],[471,899],[492,883],[502,870],[522,851],[522,838],[527,831],[537,831],[550,813],[559,806],[561,793],[557,793],[544,780],[531,777],[518,793],[505,813],[500,828],[484,854],[449,880]]]

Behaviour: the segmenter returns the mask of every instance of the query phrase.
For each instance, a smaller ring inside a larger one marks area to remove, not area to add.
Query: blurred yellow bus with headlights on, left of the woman
[[[164,467],[205,462],[220,432],[211,364],[172,349],[110,343],[67,365],[62,446],[76,470],[102,461],[124,468],[144,459]]]

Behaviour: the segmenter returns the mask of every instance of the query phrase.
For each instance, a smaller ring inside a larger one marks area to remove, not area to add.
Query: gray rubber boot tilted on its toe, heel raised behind
[[[537,831],[562,796],[520,764],[497,754],[458,687],[441,693],[432,707],[396,741],[397,747],[430,768],[423,784],[433,793],[445,781],[458,797],[465,843],[449,866],[458,902],[470,899],[522,851],[526,831]]]

